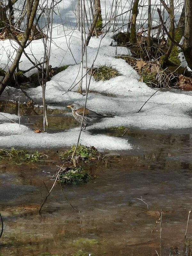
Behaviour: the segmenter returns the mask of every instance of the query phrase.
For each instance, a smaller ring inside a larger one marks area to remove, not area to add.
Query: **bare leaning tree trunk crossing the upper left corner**
[[[28,11],[27,11],[27,25],[26,25],[26,29],[25,29],[25,34],[23,36],[22,41],[20,42],[20,46],[17,50],[15,59],[13,60],[9,71],[6,72],[6,75],[2,81],[2,83],[0,84],[0,96],[2,94],[2,92],[4,91],[5,87],[9,84],[10,80],[12,79],[12,76],[15,72],[15,69],[17,68],[21,55],[26,47],[26,43],[28,41],[28,38],[30,36],[31,33],[31,28],[33,26],[33,22],[36,16],[36,11],[37,11],[37,7],[39,4],[39,0],[29,0],[28,3]]]

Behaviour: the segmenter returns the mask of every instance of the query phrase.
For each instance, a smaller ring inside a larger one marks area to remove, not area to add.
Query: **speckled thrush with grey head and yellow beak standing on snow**
[[[77,120],[77,122],[81,123],[82,117],[83,117],[84,107],[80,106],[77,103],[73,103],[71,105],[68,105],[67,107],[71,108],[73,117]],[[114,117],[114,116],[103,116],[103,115],[98,114],[98,113],[96,113],[96,112],[94,112],[94,111],[92,111],[88,108],[85,108],[84,120],[83,120],[83,124],[84,124],[83,129],[86,129],[88,124],[92,124],[94,121],[100,120],[100,119],[105,118],[105,117]]]

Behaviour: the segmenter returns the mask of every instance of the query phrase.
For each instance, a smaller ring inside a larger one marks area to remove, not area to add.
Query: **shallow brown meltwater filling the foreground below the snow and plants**
[[[47,194],[42,180],[51,188],[46,172],[55,173],[56,163],[2,163],[0,255],[191,255],[192,220],[184,242],[192,205],[191,135],[128,135],[132,152],[110,157],[108,168],[91,166],[97,176],[91,182],[64,186],[75,210],[57,184],[38,215]],[[160,240],[160,224],[151,230],[162,208]]]

